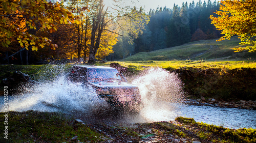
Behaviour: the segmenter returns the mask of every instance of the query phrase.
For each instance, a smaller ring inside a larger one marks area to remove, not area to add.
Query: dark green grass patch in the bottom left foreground
[[[1,112],[0,116],[4,114]],[[1,123],[4,121],[0,118]],[[4,126],[0,128],[4,130]],[[8,139],[1,135],[0,142],[69,142],[74,136],[78,136],[75,142],[99,142],[104,138],[62,113],[26,111],[8,113]]]

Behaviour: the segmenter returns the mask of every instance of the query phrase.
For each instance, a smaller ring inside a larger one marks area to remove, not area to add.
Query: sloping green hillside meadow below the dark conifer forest
[[[169,61],[169,60],[255,60],[256,53],[234,52],[232,48],[240,47],[238,37],[231,40],[216,41],[200,40],[189,42],[181,46],[170,47],[166,49],[140,52],[129,56],[124,61]]]

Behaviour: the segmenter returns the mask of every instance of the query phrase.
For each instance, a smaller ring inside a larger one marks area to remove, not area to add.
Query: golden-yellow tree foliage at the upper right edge
[[[255,0],[222,0],[220,10],[215,12],[218,17],[210,16],[211,23],[217,30],[222,31],[218,41],[230,40],[234,35],[241,39],[241,45],[246,47],[234,48],[236,51],[248,50],[256,52],[256,1]]]

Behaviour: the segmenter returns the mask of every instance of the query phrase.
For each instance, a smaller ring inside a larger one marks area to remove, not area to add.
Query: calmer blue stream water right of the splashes
[[[256,110],[184,105],[182,106],[180,115],[182,117],[194,118],[196,122],[232,129],[256,129]]]

